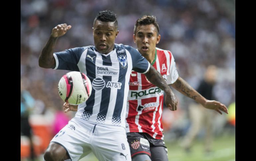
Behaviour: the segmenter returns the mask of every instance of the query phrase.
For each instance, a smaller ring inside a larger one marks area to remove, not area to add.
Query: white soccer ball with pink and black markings
[[[59,95],[70,105],[79,105],[91,95],[91,81],[81,72],[68,72],[62,76],[58,85]]]

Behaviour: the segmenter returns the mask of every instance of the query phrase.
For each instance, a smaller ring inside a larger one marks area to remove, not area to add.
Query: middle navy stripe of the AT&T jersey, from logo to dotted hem
[[[104,56],[102,56],[104,57]],[[111,81],[112,76],[105,76],[103,75],[102,79],[107,83],[108,81]],[[106,115],[108,111],[108,105],[110,101],[110,92],[111,88],[103,88],[101,94],[101,102],[100,102],[100,109],[99,113],[96,119],[97,123],[104,123],[106,120]]]

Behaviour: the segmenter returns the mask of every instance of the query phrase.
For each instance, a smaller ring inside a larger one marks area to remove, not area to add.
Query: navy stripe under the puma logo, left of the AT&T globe
[[[89,56],[88,56],[89,55]],[[95,60],[96,60],[96,54],[88,48],[87,55],[85,58],[85,66],[86,66],[86,75],[92,82],[95,78]],[[84,112],[81,116],[81,119],[83,120],[89,120],[90,116],[92,115],[92,109],[94,105],[94,97],[95,97],[95,90],[92,88],[91,96],[86,101],[86,107],[84,108]]]

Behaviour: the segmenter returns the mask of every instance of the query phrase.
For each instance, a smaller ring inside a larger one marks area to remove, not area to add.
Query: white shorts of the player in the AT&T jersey
[[[71,119],[51,142],[62,145],[72,161],[93,152],[99,161],[131,161],[126,130],[121,126]]]

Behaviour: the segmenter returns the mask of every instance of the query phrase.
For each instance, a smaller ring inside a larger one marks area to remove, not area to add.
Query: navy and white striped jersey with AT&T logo
[[[91,96],[78,105],[75,118],[125,128],[131,70],[146,73],[150,67],[147,59],[123,44],[115,44],[108,54],[97,52],[95,46],[86,46],[56,52],[54,57],[54,69],[80,71],[92,82]]]

